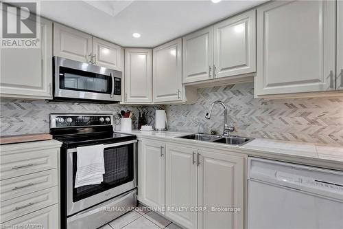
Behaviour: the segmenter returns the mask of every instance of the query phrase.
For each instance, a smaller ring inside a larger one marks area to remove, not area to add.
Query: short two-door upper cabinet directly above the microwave
[[[121,54],[119,45],[54,23],[54,56],[122,71]]]

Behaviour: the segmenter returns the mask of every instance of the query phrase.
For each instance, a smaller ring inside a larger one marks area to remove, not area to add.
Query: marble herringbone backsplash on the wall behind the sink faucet
[[[255,99],[253,83],[198,89],[196,104],[165,106],[169,130],[198,132],[203,124],[205,133],[222,133],[220,105],[214,107],[211,120],[204,118],[214,100],[227,105],[228,122],[239,135],[343,145],[343,97]]]

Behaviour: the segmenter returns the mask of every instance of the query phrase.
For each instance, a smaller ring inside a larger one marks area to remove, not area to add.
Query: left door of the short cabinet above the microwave
[[[92,63],[92,36],[54,23],[54,56]]]

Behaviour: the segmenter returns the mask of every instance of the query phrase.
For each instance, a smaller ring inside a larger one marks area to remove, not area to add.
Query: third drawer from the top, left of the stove
[[[40,190],[36,193],[22,195],[21,197],[16,197],[14,199],[1,201],[0,223],[57,203],[57,186]]]

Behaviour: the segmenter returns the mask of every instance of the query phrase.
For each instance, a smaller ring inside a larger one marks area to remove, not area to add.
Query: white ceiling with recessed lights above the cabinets
[[[40,14],[124,47],[156,47],[263,1],[40,1]]]

